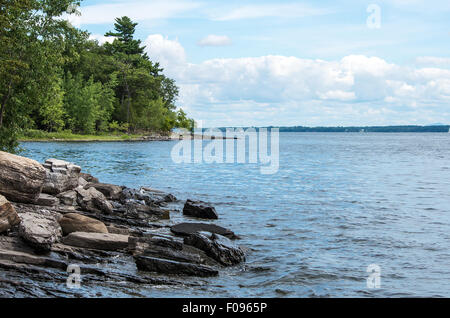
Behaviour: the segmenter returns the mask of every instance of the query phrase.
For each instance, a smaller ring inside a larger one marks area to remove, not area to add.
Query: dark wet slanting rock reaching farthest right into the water
[[[209,232],[194,233],[184,239],[184,244],[194,246],[224,266],[245,261],[244,252],[228,238]]]

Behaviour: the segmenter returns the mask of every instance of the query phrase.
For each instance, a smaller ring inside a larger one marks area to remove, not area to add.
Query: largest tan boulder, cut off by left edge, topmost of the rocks
[[[45,176],[37,161],[0,151],[0,193],[8,200],[35,203]]]

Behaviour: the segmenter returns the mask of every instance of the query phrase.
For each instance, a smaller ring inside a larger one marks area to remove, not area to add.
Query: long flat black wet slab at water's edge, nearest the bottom
[[[205,265],[177,262],[149,256],[135,256],[136,266],[139,270],[156,272],[160,274],[175,274],[198,277],[217,276],[219,272]]]

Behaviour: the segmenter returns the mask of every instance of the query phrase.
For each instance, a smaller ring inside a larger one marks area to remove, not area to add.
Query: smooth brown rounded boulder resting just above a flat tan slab
[[[64,235],[73,232],[108,233],[103,222],[77,213],[65,214],[59,220],[59,225],[61,225]]]

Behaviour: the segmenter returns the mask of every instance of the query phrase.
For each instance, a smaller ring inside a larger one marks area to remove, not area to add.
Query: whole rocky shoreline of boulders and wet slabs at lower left
[[[187,220],[172,225],[177,206]],[[211,223],[218,218],[205,202],[0,152],[0,297],[139,297],[146,285],[195,285],[190,277],[245,262],[238,236]]]

